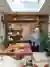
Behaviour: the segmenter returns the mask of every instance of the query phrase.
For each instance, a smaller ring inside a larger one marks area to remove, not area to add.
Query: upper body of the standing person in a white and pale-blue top
[[[40,45],[40,31],[39,28],[35,28],[35,32],[31,33],[26,40],[35,41],[35,46]]]

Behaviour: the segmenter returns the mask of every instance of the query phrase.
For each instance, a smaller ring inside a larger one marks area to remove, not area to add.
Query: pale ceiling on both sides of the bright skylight
[[[11,9],[7,4],[6,0],[0,0],[0,12],[8,12],[11,13]],[[49,14],[50,15],[50,0],[46,0],[43,7],[41,8],[38,14]]]

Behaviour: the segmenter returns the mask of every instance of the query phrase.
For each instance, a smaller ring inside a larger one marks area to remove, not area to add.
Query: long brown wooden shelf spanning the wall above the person
[[[42,19],[42,20],[40,20]],[[38,22],[43,21],[43,20],[48,20],[48,15],[47,14],[34,14],[34,13],[15,13],[15,14],[5,14],[4,15],[4,22],[7,23],[27,23],[27,22]],[[44,21],[45,21],[44,20]]]

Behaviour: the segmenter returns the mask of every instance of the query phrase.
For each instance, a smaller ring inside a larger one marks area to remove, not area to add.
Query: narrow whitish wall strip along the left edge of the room
[[[3,39],[5,37],[5,26],[3,26],[3,23],[1,21],[1,16],[4,16],[3,13],[0,12],[0,49],[4,50],[4,45],[2,44],[1,36],[3,36]]]

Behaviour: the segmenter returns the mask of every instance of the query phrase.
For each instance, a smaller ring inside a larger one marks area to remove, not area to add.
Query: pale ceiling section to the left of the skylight
[[[11,12],[6,0],[0,0],[0,12]]]

